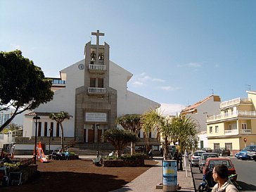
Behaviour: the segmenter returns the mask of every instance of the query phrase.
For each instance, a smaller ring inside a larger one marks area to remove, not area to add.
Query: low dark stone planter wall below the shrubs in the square
[[[143,167],[144,160],[103,160],[103,167]]]

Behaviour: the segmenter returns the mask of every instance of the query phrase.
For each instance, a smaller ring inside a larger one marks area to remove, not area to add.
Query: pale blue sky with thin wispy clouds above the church
[[[0,1],[0,51],[20,49],[46,77],[84,58],[105,33],[128,89],[170,113],[210,96],[255,90],[256,1]]]

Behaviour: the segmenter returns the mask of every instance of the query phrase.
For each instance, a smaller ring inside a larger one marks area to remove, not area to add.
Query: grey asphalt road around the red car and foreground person
[[[238,174],[237,183],[241,186],[240,191],[256,191],[256,162],[254,160],[238,160],[231,157],[231,161]],[[196,188],[202,182],[203,174],[200,174],[198,167],[192,168]]]

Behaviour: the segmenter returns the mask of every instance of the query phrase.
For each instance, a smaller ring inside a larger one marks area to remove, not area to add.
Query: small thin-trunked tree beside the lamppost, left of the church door
[[[72,117],[72,115],[69,115],[68,112],[65,111],[60,111],[60,113],[51,113],[49,118],[51,120],[55,120],[60,124],[60,129],[61,129],[61,149],[64,150],[64,129],[63,129],[63,124],[62,122],[64,120],[69,120]]]

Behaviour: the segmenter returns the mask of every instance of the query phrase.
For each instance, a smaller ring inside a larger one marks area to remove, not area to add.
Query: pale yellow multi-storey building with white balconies
[[[235,155],[256,143],[256,91],[247,93],[248,98],[220,103],[219,115],[207,116],[208,147],[227,148]]]

